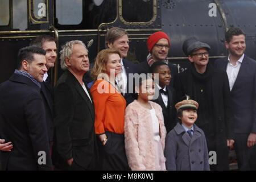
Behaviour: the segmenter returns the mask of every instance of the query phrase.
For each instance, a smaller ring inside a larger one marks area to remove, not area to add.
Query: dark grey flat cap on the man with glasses
[[[190,55],[192,51],[195,51],[200,48],[207,48],[208,51],[210,50],[210,46],[208,44],[200,42],[195,37],[185,40],[182,48],[183,52],[187,56]]]

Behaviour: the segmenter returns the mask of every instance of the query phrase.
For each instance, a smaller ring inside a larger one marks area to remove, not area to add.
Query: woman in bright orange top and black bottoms
[[[104,49],[98,53],[91,72],[96,81],[90,92],[96,113],[94,125],[99,139],[102,170],[130,169],[123,135],[126,100],[115,85],[121,72],[121,55],[117,50]]]

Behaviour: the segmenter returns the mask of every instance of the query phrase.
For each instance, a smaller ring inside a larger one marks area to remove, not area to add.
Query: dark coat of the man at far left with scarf
[[[30,78],[14,73],[0,86],[0,138],[11,141],[11,152],[1,152],[3,169],[51,170],[52,162],[46,128],[46,115],[40,88]],[[39,164],[39,151],[46,164]]]

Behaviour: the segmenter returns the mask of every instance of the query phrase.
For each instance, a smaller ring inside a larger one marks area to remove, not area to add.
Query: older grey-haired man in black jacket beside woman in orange
[[[83,76],[89,71],[88,51],[80,40],[67,42],[60,51],[63,75],[54,88],[54,124],[62,169],[93,170],[97,163],[94,105]]]

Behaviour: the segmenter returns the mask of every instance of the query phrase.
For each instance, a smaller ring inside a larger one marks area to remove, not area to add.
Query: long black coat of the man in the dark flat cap
[[[190,69],[188,68],[188,70],[179,74],[179,79],[175,82],[175,89],[176,93],[179,94],[179,98],[187,94],[192,100],[195,100],[195,95],[193,95],[189,88],[189,85],[193,84],[191,83],[192,75],[190,74]],[[215,133],[207,133],[207,131],[204,131],[204,133],[206,137],[208,136],[208,150],[214,150],[217,153],[217,169],[228,170],[228,147],[226,139],[234,139],[232,98],[229,90],[228,76],[226,72],[213,70],[210,80],[212,80],[211,100],[213,102],[213,118],[211,119],[215,123]],[[198,122],[198,120],[195,122],[196,125],[201,127]],[[212,136],[215,137],[213,138]]]

